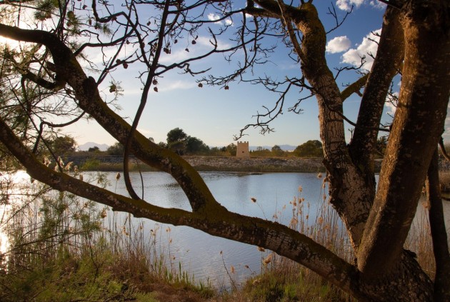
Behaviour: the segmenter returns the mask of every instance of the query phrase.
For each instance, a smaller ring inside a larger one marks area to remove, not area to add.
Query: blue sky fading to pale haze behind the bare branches
[[[326,14],[330,1],[315,1],[321,19],[326,29],[334,26],[334,19]],[[331,69],[339,66],[354,64],[359,61],[359,55],[376,49],[373,42],[366,39],[371,31],[381,29],[384,8],[374,1],[364,0],[339,0],[334,3],[336,11],[344,16],[345,9],[354,5],[354,11],[346,22],[327,37],[327,61]],[[341,9],[339,9],[341,8]],[[211,18],[214,14],[211,13]],[[234,22],[240,22],[234,19]],[[219,28],[221,24],[211,24],[211,28]],[[199,54],[208,47],[208,36],[199,36],[198,43],[191,45],[189,54]],[[221,37],[222,45],[229,43]],[[170,56],[162,60],[171,61],[179,56],[186,56],[186,51],[172,51]],[[286,75],[301,76],[300,67],[287,56],[287,49],[279,45],[271,57],[271,62],[259,66],[256,72],[267,74],[275,79],[284,79]],[[99,54],[91,52],[91,59],[99,59]],[[207,58],[199,68],[213,66],[213,74],[224,74],[226,70],[232,70],[233,63],[229,64],[221,56]],[[370,66],[370,62],[368,63]],[[369,68],[369,67],[368,67]],[[89,72],[88,72],[89,74]],[[139,75],[139,66],[130,66],[128,69],[117,70],[114,78],[121,81],[124,88],[124,96],[119,99],[122,110],[121,116],[129,117],[131,122],[137,107],[139,106],[140,86],[136,77]],[[354,81],[355,74],[352,71],[342,74],[338,84],[346,84]],[[106,86],[101,87],[104,94],[109,92]],[[229,90],[219,87],[204,86],[199,88],[196,78],[189,75],[167,74],[164,79],[159,79],[159,92],[151,91],[146,109],[139,123],[138,129],[145,136],[151,136],[156,142],[166,141],[166,134],[171,129],[179,127],[186,134],[203,140],[209,146],[226,146],[233,142],[233,136],[239,133],[239,129],[246,124],[254,122],[252,116],[257,111],[264,111],[262,106],[273,106],[278,96],[266,91],[264,87],[234,82],[229,85]],[[286,101],[286,108],[296,102],[299,94],[292,91]],[[266,135],[259,134],[259,130],[249,129],[248,136],[241,141],[249,141],[251,146],[274,146],[276,144],[291,144],[297,146],[310,139],[319,139],[318,110],[316,100],[308,99],[301,103],[302,114],[294,114],[284,110],[284,114],[272,122],[271,126],[276,132]],[[344,104],[346,116],[356,121],[359,109],[359,97],[351,96]],[[386,108],[389,111],[389,108]],[[384,114],[386,119],[389,118]],[[346,129],[351,128],[347,126]],[[115,140],[103,129],[96,125],[95,121],[80,121],[65,131],[76,138],[79,144],[94,141],[99,144],[114,144]]]

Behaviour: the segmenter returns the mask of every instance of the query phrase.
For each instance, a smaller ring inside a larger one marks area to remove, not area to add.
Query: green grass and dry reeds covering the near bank
[[[101,174],[86,181],[106,185]],[[129,214],[119,218],[109,208],[71,193],[23,181],[19,188],[6,177],[1,185],[10,214],[1,221],[10,244],[1,256],[1,301],[354,301],[316,273],[264,248],[259,248],[260,271],[247,267],[249,278],[239,280],[233,263],[224,263],[229,284],[217,288],[196,281],[168,256],[170,251],[161,249],[167,231],[161,225],[147,236],[142,222],[131,223]],[[351,261],[349,239],[327,196],[319,201],[318,212],[310,213],[301,190],[272,218],[289,215],[289,227]],[[256,199],[249,202],[259,206]],[[426,208],[421,209],[406,248],[417,253],[432,277]]]

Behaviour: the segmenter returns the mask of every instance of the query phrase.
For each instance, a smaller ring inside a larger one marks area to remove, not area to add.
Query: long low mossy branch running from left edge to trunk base
[[[114,211],[132,213],[135,217],[149,218],[175,226],[191,226],[213,236],[268,248],[304,264],[331,283],[361,296],[356,286],[357,271],[331,251],[287,226],[261,218],[231,213],[222,206],[210,211],[188,212],[176,208],[161,208],[142,200],[127,198],[111,191],[85,183],[66,173],[57,173],[44,166],[21,144],[9,126],[0,119],[0,141],[19,159],[33,178],[61,191],[69,191],[89,198]]]

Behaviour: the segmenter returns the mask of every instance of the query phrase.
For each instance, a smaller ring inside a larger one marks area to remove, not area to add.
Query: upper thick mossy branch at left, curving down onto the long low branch
[[[84,74],[70,49],[59,41],[54,34],[0,24],[0,35],[19,41],[46,45],[55,61],[57,73],[74,89],[80,108],[91,114],[121,144],[126,144],[131,126],[105,104],[99,95],[94,79],[88,78]],[[171,173],[186,192],[193,209],[199,210],[216,204],[206,184],[189,163],[176,156],[175,153],[152,143],[139,134],[139,131],[135,132],[136,134],[131,141],[131,151],[149,166]]]

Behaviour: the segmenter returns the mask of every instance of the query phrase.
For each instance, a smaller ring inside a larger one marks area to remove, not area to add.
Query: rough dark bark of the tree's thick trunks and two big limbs
[[[316,9],[310,2],[302,3],[298,9],[281,6],[279,1],[255,2],[263,9],[253,8],[254,14],[294,21],[303,34],[301,46],[296,41],[293,44],[298,46],[296,51],[301,59],[301,69],[313,87],[319,104],[330,201],[346,224],[358,252],[357,266],[346,263],[311,238],[279,223],[227,211],[214,199],[194,168],[175,153],[161,149],[146,139],[139,131],[135,131],[131,138],[131,151],[144,163],[174,176],[186,193],[192,211],[160,208],[57,173],[39,163],[1,119],[0,141],[14,153],[32,177],[53,188],[90,198],[116,211],[133,213],[136,217],[191,226],[214,236],[269,248],[311,268],[361,301],[431,301],[431,281],[414,257],[402,250],[402,246],[434,152],[431,146],[436,146],[441,135],[449,101],[450,42],[448,19],[445,19],[448,18],[449,4],[444,0],[434,0],[434,6],[430,9],[426,6],[428,3],[420,3],[424,6],[421,7],[413,0],[402,9],[406,42],[404,79],[379,190],[374,197],[372,180],[367,181],[371,170],[361,168],[361,164],[371,161],[371,144],[376,140],[376,132],[367,129],[379,123],[381,99],[385,93],[378,93],[372,81],[381,83],[382,88],[386,89],[394,73],[394,69],[386,67],[386,64],[399,60],[401,44],[396,44],[396,48],[389,53],[392,54],[390,59],[383,64],[374,64],[377,72],[368,80],[365,95],[369,101],[364,101],[361,106],[364,111],[361,116],[370,110],[376,110],[376,113],[374,119],[366,124],[359,121],[361,139],[358,136],[354,146],[356,148],[360,144],[366,149],[361,153],[350,153],[344,135],[343,100],[326,64],[326,34]],[[263,14],[264,9],[267,14]],[[391,14],[392,17],[389,17]],[[389,14],[386,12],[386,19],[392,18],[394,21],[385,25],[386,31],[381,41],[399,35],[394,15],[392,9],[389,9]],[[46,45],[53,56],[57,75],[74,90],[80,108],[121,144],[126,144],[131,126],[104,103],[95,81],[86,76],[74,54],[56,35],[2,24],[0,34]],[[381,42],[381,49],[385,46]],[[381,49],[380,54],[386,51]],[[386,70],[386,78],[381,79],[383,70]],[[429,96],[433,96],[431,101]]]

